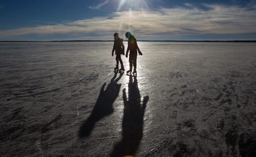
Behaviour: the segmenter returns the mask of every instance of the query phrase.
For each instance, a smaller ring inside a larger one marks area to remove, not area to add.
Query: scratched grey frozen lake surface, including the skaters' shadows
[[[0,154],[256,155],[255,42],[138,45],[0,42]]]

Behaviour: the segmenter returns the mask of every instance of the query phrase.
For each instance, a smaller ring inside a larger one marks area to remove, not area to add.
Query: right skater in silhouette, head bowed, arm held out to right
[[[139,55],[142,55],[142,53],[138,47],[136,38],[130,32],[126,32],[125,37],[128,38],[128,47],[127,47],[126,54],[125,54],[126,58],[128,57],[128,53],[130,51],[130,55],[129,55],[130,70],[127,71],[127,73],[132,72],[132,69],[134,68],[133,74],[135,74],[135,73],[137,74],[137,71],[136,71],[137,50],[139,52]]]

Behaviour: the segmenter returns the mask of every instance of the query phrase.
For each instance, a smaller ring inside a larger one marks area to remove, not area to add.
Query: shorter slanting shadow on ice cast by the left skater
[[[113,113],[114,109],[112,105],[118,97],[121,88],[121,84],[117,84],[117,82],[122,77],[122,75],[123,73],[120,73],[119,77],[115,80],[115,78],[117,77],[117,72],[115,72],[114,77],[111,79],[111,82],[108,84],[105,91],[104,87],[106,83],[102,85],[99,97],[96,101],[91,115],[81,125],[79,129],[79,138],[89,136],[97,121]]]

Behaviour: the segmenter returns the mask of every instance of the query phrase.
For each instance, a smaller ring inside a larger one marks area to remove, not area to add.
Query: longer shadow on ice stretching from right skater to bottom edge
[[[143,98],[141,104],[140,91],[136,76],[130,75],[128,84],[128,100],[126,89],[123,89],[123,121],[122,121],[122,140],[114,146],[111,156],[135,155],[143,136],[143,117],[148,96]]]

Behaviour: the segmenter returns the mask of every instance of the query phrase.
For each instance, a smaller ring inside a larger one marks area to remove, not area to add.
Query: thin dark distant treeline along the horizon
[[[81,42],[81,41],[113,41],[113,40],[55,40],[55,41],[0,41],[0,42]],[[127,40],[125,40],[127,41]],[[256,40],[137,40],[154,42],[256,42]]]

